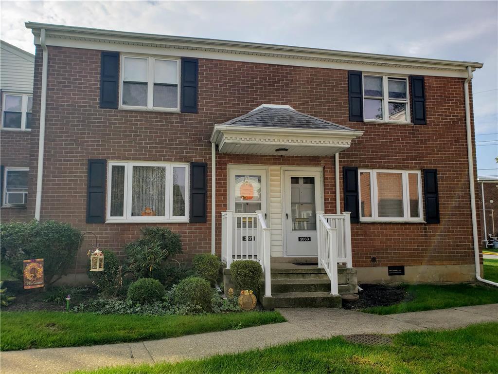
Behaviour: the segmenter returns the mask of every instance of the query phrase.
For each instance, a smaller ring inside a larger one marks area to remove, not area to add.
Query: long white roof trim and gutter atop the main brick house
[[[458,77],[467,76],[467,66],[471,66],[473,70],[483,66],[479,62],[403,57],[184,36],[154,35],[35,22],[26,22],[26,27],[32,29],[35,36],[35,44],[40,43],[40,30],[43,28],[46,30],[47,45],[88,49],[126,52],[134,50],[140,53],[169,53],[185,57],[198,56],[295,66],[329,68],[355,68],[356,66],[361,66],[361,70],[365,71],[386,71],[391,73],[407,73],[406,69],[411,69],[409,71],[410,74],[429,74],[430,71],[439,71],[440,73],[433,73],[433,75]],[[179,50],[179,52],[172,52],[174,50]],[[202,53],[199,51],[202,51]],[[334,63],[334,65],[332,66],[331,63]],[[379,66],[382,68],[379,68]]]

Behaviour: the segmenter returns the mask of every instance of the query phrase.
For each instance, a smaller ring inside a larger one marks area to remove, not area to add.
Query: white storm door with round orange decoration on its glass
[[[229,208],[234,211],[232,252],[236,259],[257,255],[257,218],[266,216],[266,170],[230,169]]]

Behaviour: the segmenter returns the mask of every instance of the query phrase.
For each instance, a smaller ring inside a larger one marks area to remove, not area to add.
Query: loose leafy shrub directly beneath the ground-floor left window
[[[124,246],[128,270],[135,279],[154,278],[170,256],[182,252],[180,235],[165,227],[144,227],[142,236]]]

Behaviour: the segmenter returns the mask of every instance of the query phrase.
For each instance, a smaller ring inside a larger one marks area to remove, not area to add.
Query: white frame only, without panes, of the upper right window
[[[366,96],[365,95],[365,77],[376,77],[382,78],[382,97],[377,96]],[[398,79],[406,81],[406,99],[389,99],[389,79]],[[362,75],[362,96],[363,96],[363,121],[364,122],[388,122],[388,123],[399,123],[399,124],[409,124],[411,123],[411,114],[410,114],[410,92],[408,85],[408,77],[396,76],[396,75],[382,75],[375,73],[364,73]],[[382,101],[382,119],[371,119],[365,118],[365,99],[373,99],[373,100],[381,100]],[[389,102],[393,103],[405,103],[406,104],[406,121],[390,121],[389,120]]]

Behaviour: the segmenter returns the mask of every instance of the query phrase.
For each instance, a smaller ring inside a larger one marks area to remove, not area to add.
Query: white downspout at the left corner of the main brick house
[[[47,70],[48,70],[48,49],[45,43],[45,29],[40,32],[40,44],[43,49],[43,63],[41,69],[41,103],[40,103],[40,134],[38,141],[38,172],[36,175],[36,202],[34,217],[40,220],[41,215],[41,187],[43,179],[43,151],[45,145],[45,111],[47,106]]]

